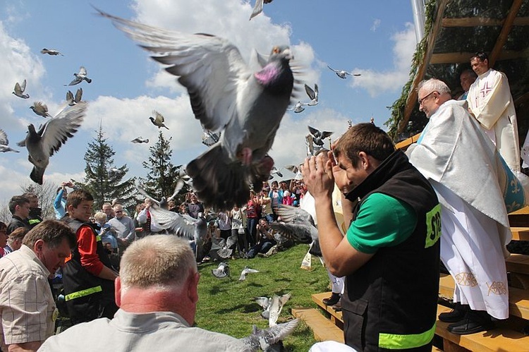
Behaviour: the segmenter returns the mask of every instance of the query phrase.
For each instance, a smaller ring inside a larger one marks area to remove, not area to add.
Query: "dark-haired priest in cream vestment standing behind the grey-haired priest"
[[[509,80],[504,73],[489,68],[485,53],[473,56],[470,65],[478,75],[466,98],[470,114],[494,142],[509,168],[520,171],[518,125]]]

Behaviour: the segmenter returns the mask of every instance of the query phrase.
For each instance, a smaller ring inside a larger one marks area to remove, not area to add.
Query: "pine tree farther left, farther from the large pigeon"
[[[114,166],[114,149],[104,138],[102,125],[99,125],[97,135],[88,143],[85,152],[85,183],[81,183],[85,190],[94,197],[94,209],[99,210],[104,202],[119,199],[123,207],[133,207],[136,205],[135,178],[128,178],[123,181],[123,177],[128,172],[127,165]],[[109,173],[112,168],[118,169],[115,173]]]

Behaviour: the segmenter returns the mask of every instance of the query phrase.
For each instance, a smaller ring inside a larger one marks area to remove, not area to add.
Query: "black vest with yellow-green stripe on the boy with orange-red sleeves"
[[[112,267],[101,238],[97,236],[90,224],[70,217],[63,218],[63,221],[66,221],[76,235],[81,227],[89,227],[97,241],[99,260],[106,267]],[[89,322],[104,316],[112,318],[117,310],[114,281],[101,279],[87,272],[81,265],[81,256],[77,246],[72,250],[71,259],[63,266],[63,287],[68,313],[73,324]]]

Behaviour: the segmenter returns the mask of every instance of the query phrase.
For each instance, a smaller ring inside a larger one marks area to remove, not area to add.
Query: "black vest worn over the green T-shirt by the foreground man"
[[[346,277],[342,297],[346,344],[358,351],[432,351],[441,236],[437,195],[401,151],[348,193],[348,200],[360,198],[353,219],[371,193],[406,202],[417,214],[417,225],[406,241],[379,248]]]

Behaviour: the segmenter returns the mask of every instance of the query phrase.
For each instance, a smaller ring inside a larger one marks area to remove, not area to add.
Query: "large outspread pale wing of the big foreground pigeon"
[[[152,59],[167,65],[187,88],[195,118],[209,131],[220,131],[238,118],[236,102],[251,71],[241,53],[228,40],[213,35],[190,35],[142,25],[99,13],[112,20],[140,46],[151,51]],[[243,136],[241,136],[243,138]]]

